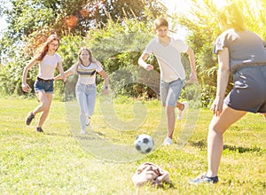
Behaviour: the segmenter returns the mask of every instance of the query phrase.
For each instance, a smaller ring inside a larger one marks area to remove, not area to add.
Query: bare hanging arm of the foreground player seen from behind
[[[211,106],[211,110],[216,116],[219,116],[220,113],[223,112],[223,98],[225,96],[230,75],[229,51],[227,48],[218,52],[218,63],[216,97]]]

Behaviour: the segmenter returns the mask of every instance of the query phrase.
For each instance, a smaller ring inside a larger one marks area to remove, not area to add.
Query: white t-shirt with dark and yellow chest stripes
[[[78,66],[78,68],[76,68]],[[93,84],[96,79],[96,72],[101,72],[103,67],[100,66],[97,62],[91,62],[90,66],[78,65],[74,64],[70,68],[70,70],[74,73],[79,74],[79,78],[77,82],[82,84]]]

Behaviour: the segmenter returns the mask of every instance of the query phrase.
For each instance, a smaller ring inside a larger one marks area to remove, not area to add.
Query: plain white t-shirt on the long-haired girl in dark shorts
[[[50,80],[54,76],[54,72],[62,58],[59,54],[55,53],[52,56],[46,54],[42,61],[39,62],[39,78]]]

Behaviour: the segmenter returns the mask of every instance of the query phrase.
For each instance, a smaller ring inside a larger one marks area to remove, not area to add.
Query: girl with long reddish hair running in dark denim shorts
[[[56,52],[59,49],[59,37],[57,35],[50,35],[41,50],[35,55],[35,57],[24,67],[22,75],[22,90],[27,92],[30,90],[26,80],[28,70],[36,63],[39,64],[39,74],[34,84],[35,94],[40,105],[27,114],[26,124],[30,125],[31,121],[35,118],[36,113],[41,113],[39,121],[37,123],[36,130],[43,132],[43,122],[46,120],[53,93],[53,76],[55,69],[58,67],[59,73],[66,82],[66,75],[62,67],[62,58]]]

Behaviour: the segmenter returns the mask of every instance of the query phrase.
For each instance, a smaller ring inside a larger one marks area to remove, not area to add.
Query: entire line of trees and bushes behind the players
[[[244,11],[246,28],[266,40],[265,1],[234,2]],[[139,68],[137,58],[154,35],[153,20],[163,16],[171,21],[173,28],[178,24],[188,30],[185,41],[196,55],[201,105],[208,106],[215,96],[217,58],[212,50],[215,37],[221,32],[215,17],[217,7],[212,1],[192,0],[190,10],[171,15],[158,0],[12,0],[8,6],[0,4],[0,8],[0,15],[6,15],[8,22],[0,41],[0,55],[8,58],[7,62],[1,62],[2,94],[27,96],[20,87],[23,67],[46,36],[57,33],[65,70],[77,60],[79,48],[87,46],[110,74],[116,94],[157,98],[158,76]],[[188,62],[185,56],[183,59],[186,67]],[[155,58],[149,60],[159,72]],[[28,73],[27,82],[31,85],[36,68]],[[150,81],[139,81],[140,75]],[[67,86],[57,82],[55,93],[64,94],[63,100],[73,97],[74,91],[66,93],[66,87],[74,89],[75,79],[69,78]],[[150,84],[146,85],[147,82]],[[183,98],[194,98],[191,85],[184,88]]]

